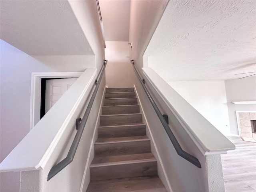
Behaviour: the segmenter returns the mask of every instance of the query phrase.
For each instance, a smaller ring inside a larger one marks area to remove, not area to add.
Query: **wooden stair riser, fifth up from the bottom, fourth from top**
[[[102,115],[139,113],[139,105],[102,106]]]

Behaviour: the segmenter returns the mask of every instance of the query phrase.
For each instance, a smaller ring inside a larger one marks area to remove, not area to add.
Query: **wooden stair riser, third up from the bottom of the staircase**
[[[143,136],[143,135],[146,135],[146,127],[144,125],[98,128],[99,138],[132,137],[132,136]]]

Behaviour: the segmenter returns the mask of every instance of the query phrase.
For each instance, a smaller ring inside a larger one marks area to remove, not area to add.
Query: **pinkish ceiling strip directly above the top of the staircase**
[[[106,41],[129,41],[130,0],[99,0]]]

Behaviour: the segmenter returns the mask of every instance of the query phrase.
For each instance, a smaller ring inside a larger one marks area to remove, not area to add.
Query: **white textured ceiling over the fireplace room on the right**
[[[144,55],[166,81],[255,72],[256,1],[171,0]]]

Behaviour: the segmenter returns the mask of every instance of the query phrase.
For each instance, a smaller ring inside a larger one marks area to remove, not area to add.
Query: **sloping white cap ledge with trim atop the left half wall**
[[[0,164],[0,172],[43,169],[69,126],[76,122],[82,101],[90,94],[97,69],[87,68],[24,139]],[[85,84],[85,82],[87,82]]]

